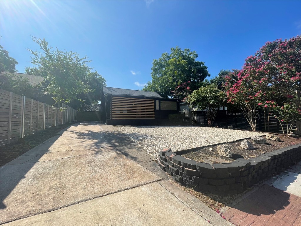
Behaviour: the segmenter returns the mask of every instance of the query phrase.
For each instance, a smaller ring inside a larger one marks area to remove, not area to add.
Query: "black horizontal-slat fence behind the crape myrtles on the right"
[[[181,111],[181,114],[184,114],[184,122],[188,124],[195,125],[207,125],[207,117],[205,111]],[[277,118],[269,117],[266,115],[264,121],[264,112],[257,111],[257,131],[265,131],[272,133],[282,133],[282,128],[277,120]],[[281,123],[284,132],[286,132],[286,124]],[[213,126],[225,127],[233,126],[237,129],[251,130],[250,124],[247,119],[244,117],[243,113],[240,111],[229,111],[229,110],[220,110],[217,112],[216,118],[214,120]],[[296,125],[293,126],[293,130],[296,128]]]

